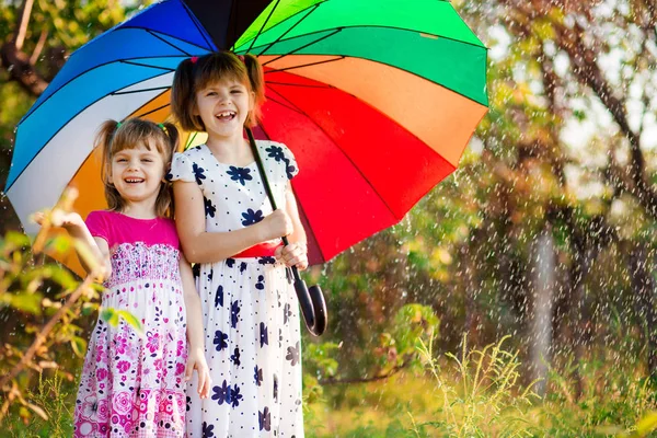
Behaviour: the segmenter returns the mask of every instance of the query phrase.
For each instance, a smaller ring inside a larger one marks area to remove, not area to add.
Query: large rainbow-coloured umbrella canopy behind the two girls
[[[163,1],[71,55],[21,120],[7,193],[25,229],[69,183],[80,214],[104,208],[97,126],[163,122],[177,64],[218,48],[264,66],[255,132],[297,158],[312,264],[399,222],[454,171],[487,111],[486,48],[449,1]]]

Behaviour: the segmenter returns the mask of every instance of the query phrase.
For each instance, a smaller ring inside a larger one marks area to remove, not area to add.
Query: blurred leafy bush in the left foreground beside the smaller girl
[[[67,192],[45,212],[34,242],[18,232],[0,239],[0,315],[5,320],[0,334],[0,425],[11,417],[10,431],[15,433],[20,423],[34,422],[34,416],[49,430],[46,436],[65,427],[61,418],[70,413],[62,403],[66,394],[74,391],[87,350],[80,325],[84,316],[100,311],[110,324],[116,325],[120,316],[140,330],[131,314],[100,308],[102,286],[94,283],[100,261],[82,241],[57,230],[57,218],[70,211],[74,198],[74,192]],[[90,267],[91,274],[83,279],[45,255],[72,249]],[[66,394],[60,394],[64,387]]]

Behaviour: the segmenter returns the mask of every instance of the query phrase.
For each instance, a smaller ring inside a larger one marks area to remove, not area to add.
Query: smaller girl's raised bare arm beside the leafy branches
[[[91,235],[89,228],[82,220],[82,217],[77,212],[54,212],[53,222],[58,227],[62,227],[73,239],[82,241],[91,250],[93,256],[102,263],[102,269],[97,275],[102,278],[110,278],[112,275],[112,262],[110,258],[110,246],[105,239],[94,238]],[[34,221],[39,226],[43,224],[45,216],[43,212],[34,215]],[[80,264],[88,274],[91,274],[92,269],[84,261],[84,257],[80,256],[78,252],[78,258]]]

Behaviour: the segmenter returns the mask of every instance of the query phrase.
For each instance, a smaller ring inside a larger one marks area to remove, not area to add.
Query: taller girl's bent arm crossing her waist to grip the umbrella
[[[246,228],[229,232],[207,232],[205,203],[200,187],[194,182],[173,183],[175,224],[183,252],[193,263],[217,263],[258,243],[288,235],[292,222],[283,210],[276,210]]]

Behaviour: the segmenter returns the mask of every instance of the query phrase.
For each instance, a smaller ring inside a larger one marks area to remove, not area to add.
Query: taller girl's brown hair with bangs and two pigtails
[[[262,115],[261,105],[265,102],[263,68],[253,55],[238,57],[232,51],[222,50],[185,59],[177,66],[171,88],[171,108],[183,129],[206,130],[200,116],[194,115],[196,92],[226,79],[241,82],[253,92],[253,110],[246,116],[244,125],[257,125]]]

